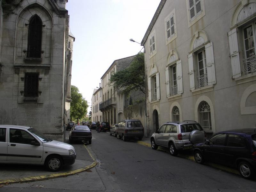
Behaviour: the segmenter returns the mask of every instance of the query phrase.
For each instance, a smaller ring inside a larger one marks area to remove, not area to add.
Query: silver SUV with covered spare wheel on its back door
[[[172,156],[179,150],[191,149],[193,144],[203,142],[205,132],[196,121],[167,122],[151,135],[151,147],[168,147]]]

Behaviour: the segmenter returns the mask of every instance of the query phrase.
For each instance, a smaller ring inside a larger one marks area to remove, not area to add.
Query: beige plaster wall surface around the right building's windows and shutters
[[[240,101],[243,92],[253,84],[255,80],[238,84],[232,79],[228,36],[230,22],[236,4],[240,1],[204,1],[205,15],[191,27],[188,26],[186,1],[173,0],[166,1],[160,12],[151,33],[156,31],[156,54],[150,58],[148,39],[145,42],[145,64],[147,76],[150,76],[152,64],[156,64],[160,80],[160,100],[151,102],[147,100],[148,129],[153,130],[153,110],[159,108],[159,126],[170,121],[170,111],[173,102],[178,102],[182,109],[183,120],[198,120],[196,102],[201,96],[209,98],[213,104],[214,114],[212,119],[215,124],[213,132],[231,128],[255,126],[256,114],[242,115],[240,111]],[[175,9],[177,38],[166,45],[165,22],[166,16]],[[190,54],[190,43],[196,31],[204,30],[208,40],[213,43],[216,84],[208,92],[190,91],[188,75],[188,55]],[[168,66],[170,52],[175,50],[179,60],[182,61],[182,82],[183,93],[180,97],[168,99],[166,96],[165,68]],[[255,99],[255,93],[251,95]],[[255,103],[251,104],[255,105]]]

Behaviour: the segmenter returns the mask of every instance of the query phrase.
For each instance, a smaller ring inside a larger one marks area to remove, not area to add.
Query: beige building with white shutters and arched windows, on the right
[[[255,0],[161,0],[141,42],[148,136],[168,121],[255,127],[255,21]]]

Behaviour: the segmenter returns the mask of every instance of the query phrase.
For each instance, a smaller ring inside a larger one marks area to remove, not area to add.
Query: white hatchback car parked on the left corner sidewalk
[[[0,163],[38,164],[56,172],[75,160],[72,145],[49,139],[32,127],[0,125]]]

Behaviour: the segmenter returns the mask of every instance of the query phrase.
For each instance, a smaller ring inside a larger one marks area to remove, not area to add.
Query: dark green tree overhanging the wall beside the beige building
[[[139,52],[127,68],[113,74],[110,83],[113,83],[116,89],[122,88],[127,94],[132,90],[146,93],[144,53]]]

